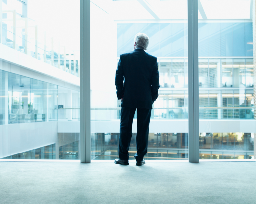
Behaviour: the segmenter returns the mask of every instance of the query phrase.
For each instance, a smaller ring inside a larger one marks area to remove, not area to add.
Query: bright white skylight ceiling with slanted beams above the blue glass
[[[252,19],[253,0],[198,0],[198,19]],[[91,0],[114,20],[187,19],[187,0]]]

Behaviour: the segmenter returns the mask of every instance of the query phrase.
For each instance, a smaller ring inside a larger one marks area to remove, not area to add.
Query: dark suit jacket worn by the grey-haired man
[[[122,107],[152,109],[160,87],[157,58],[140,48],[121,54],[115,84]]]

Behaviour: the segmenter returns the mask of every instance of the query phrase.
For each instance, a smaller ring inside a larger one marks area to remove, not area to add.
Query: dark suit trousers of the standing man
[[[132,138],[132,121],[136,108],[121,109],[120,137],[118,153],[121,160],[129,159],[129,147]],[[142,161],[148,149],[148,131],[152,109],[137,108],[137,153],[134,155],[136,161]]]

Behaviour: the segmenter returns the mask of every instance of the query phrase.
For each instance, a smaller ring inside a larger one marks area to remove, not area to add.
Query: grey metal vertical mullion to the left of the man
[[[91,162],[90,0],[80,0],[80,154]]]

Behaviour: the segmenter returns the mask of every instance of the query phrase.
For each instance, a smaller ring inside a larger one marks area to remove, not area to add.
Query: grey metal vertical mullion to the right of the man
[[[189,162],[199,162],[198,90],[198,13],[197,0],[188,0],[188,134]]]

